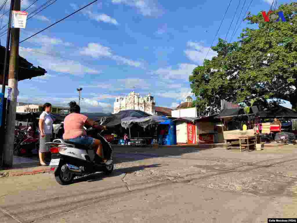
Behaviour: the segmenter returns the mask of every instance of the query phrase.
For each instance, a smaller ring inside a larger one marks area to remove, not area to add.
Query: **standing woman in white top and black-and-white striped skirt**
[[[45,103],[43,105],[44,112],[42,112],[39,117],[39,160],[41,166],[47,166],[44,157],[45,153],[50,152],[50,147],[46,143],[50,142],[53,131],[53,119],[50,116],[51,109],[52,105],[50,103]]]

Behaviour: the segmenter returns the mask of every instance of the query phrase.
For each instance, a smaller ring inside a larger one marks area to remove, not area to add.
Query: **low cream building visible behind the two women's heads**
[[[26,103],[17,103],[17,113],[29,113],[29,112],[42,112],[43,105],[39,104],[26,104]],[[68,114],[69,108],[68,107],[59,107],[59,106],[52,106],[51,113],[55,114]]]

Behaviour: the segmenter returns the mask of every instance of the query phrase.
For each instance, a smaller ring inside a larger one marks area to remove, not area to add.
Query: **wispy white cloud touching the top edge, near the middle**
[[[152,1],[148,0],[112,0],[113,4],[126,4],[136,7],[143,15],[152,15],[158,9]]]

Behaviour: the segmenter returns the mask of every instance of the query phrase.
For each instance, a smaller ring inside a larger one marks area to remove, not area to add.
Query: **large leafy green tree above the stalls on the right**
[[[270,17],[278,11],[287,22],[265,22],[261,12],[249,13],[246,20],[258,28],[244,29],[234,43],[219,39],[212,47],[218,55],[193,70],[192,92],[203,98],[206,109],[219,110],[221,99],[255,99],[254,105],[267,106],[272,98],[297,109],[297,2],[280,5]]]

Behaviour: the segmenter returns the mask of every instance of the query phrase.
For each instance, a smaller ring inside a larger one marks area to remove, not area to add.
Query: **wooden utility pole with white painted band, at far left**
[[[12,1],[14,1],[13,10],[20,11],[20,0]],[[18,97],[19,41],[20,28],[11,28],[10,59],[8,72],[9,95],[7,96],[7,123],[4,136],[4,166],[6,167],[12,167],[13,163],[15,113]]]

